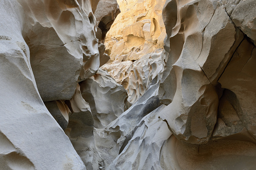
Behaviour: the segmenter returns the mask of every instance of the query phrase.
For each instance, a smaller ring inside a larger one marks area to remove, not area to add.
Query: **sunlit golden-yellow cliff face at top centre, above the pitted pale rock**
[[[111,30],[106,37],[106,47],[110,54],[111,60],[115,60],[123,54],[129,54],[133,48],[139,48],[136,53],[137,56],[129,60],[138,60],[143,55],[152,52],[157,48],[163,47],[163,39],[165,37],[164,24],[161,17],[162,7],[164,2],[158,0],[150,1],[118,1],[121,13],[112,25]],[[145,26],[144,26],[145,25]],[[124,27],[125,26],[125,27]],[[146,36],[146,37],[145,37]],[[125,46],[120,51],[122,53],[116,54],[115,42],[124,40]],[[147,49],[144,53],[144,43],[152,44],[151,49]],[[112,50],[112,48],[114,48]],[[140,52],[140,53],[139,53]]]

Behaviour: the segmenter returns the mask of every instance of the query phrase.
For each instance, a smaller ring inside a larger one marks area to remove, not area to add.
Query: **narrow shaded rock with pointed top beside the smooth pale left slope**
[[[94,146],[94,119],[89,103],[84,101],[81,96],[78,84],[72,99],[65,102],[71,110],[65,133],[87,169],[95,169],[98,165],[93,162],[100,158]]]

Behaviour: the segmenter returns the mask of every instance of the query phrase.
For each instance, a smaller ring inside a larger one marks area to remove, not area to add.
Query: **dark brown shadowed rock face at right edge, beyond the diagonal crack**
[[[234,53],[230,63],[219,79],[222,88],[234,93],[237,102],[234,108],[239,119],[252,137],[256,139],[256,115],[254,107],[255,76],[253,62],[256,55],[255,46],[244,39]],[[249,102],[250,101],[250,102]]]

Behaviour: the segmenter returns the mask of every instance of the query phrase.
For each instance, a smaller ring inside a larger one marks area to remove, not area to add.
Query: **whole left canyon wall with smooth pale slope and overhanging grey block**
[[[1,169],[86,169],[63,130],[93,129],[77,83],[107,62],[97,27],[118,5],[104,2],[97,18],[99,1],[0,2]]]

